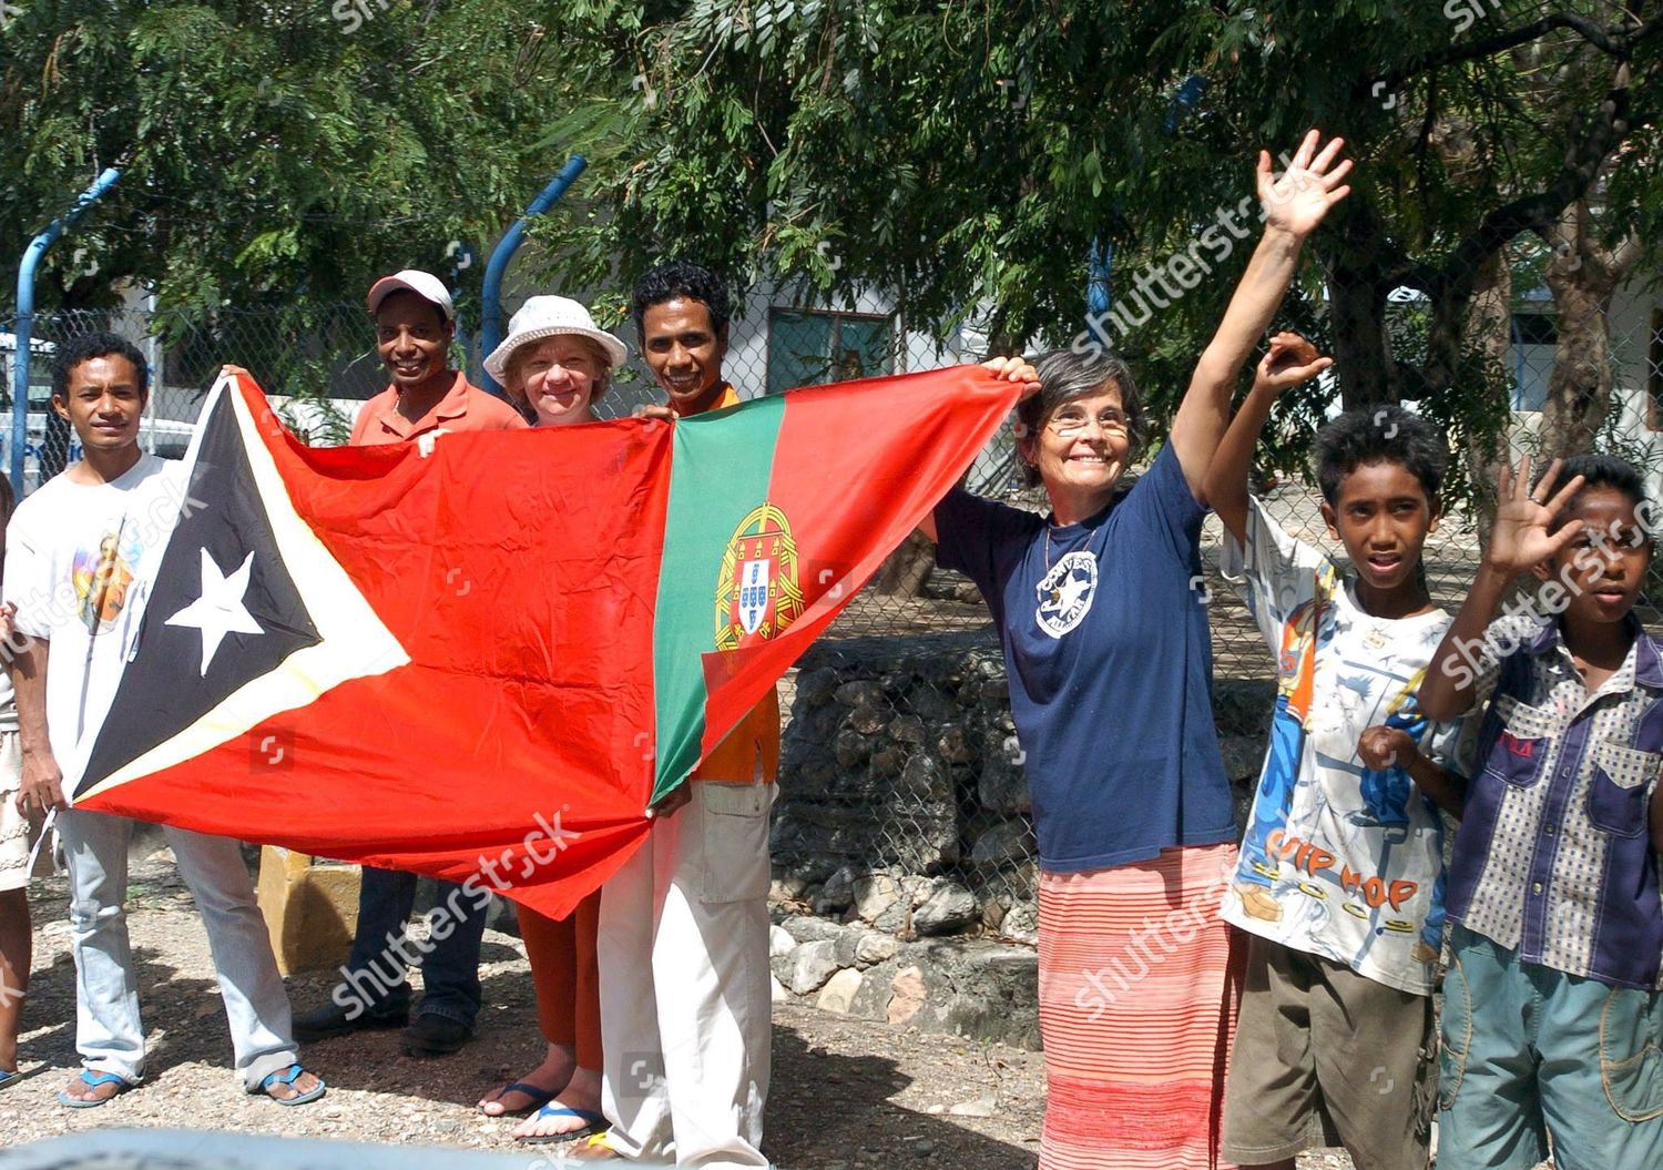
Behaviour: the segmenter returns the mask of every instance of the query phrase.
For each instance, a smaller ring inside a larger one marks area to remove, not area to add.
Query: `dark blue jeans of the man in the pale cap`
[[[426,994],[422,1015],[439,1015],[464,1027],[474,1027],[479,1015],[479,940],[486,934],[491,900],[484,890],[474,894],[456,882],[439,882],[439,904],[447,907],[451,930],[437,929],[432,937],[414,942],[404,937],[404,924],[416,907],[416,874],[364,865],[358,890],[358,934],[346,960],[346,980],[369,1010],[409,1007],[411,987],[406,965],[421,965]]]

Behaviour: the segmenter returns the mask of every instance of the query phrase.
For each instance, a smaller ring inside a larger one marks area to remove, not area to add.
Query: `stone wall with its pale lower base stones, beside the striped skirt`
[[[1239,811],[1274,696],[1214,687]],[[1034,835],[991,629],[820,642],[787,701],[775,997],[1038,1047]]]

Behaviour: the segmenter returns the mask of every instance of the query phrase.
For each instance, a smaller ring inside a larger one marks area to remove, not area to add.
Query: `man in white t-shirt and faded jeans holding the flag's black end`
[[[148,396],[145,358],[128,341],[93,333],[62,345],[52,406],[85,456],[25,499],[7,528],[5,604],[27,642],[10,664],[23,746],[18,807],[60,811],[70,865],[83,1068],[58,1100],[72,1108],[103,1105],[145,1073],[123,909],[133,822],[67,807],[62,764],[110,704],[185,499],[183,468],[138,448]],[[166,837],[208,930],[243,1087],[283,1105],[323,1097],[323,1082],[296,1063],[288,994],[238,842],[175,827]]]

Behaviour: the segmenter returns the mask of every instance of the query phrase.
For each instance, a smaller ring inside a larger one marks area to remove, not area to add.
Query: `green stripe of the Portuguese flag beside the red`
[[[657,769],[652,799],[693,769],[705,734],[703,654],[717,646],[722,556],[747,513],[768,498],[783,398],[675,423],[652,631]]]

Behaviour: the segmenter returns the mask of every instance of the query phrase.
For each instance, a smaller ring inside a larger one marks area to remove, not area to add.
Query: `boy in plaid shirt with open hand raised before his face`
[[[1420,707],[1485,707],[1448,884],[1438,1170],[1663,1167],[1663,642],[1640,473],[1503,468]],[[1497,616],[1515,574],[1543,583]]]

